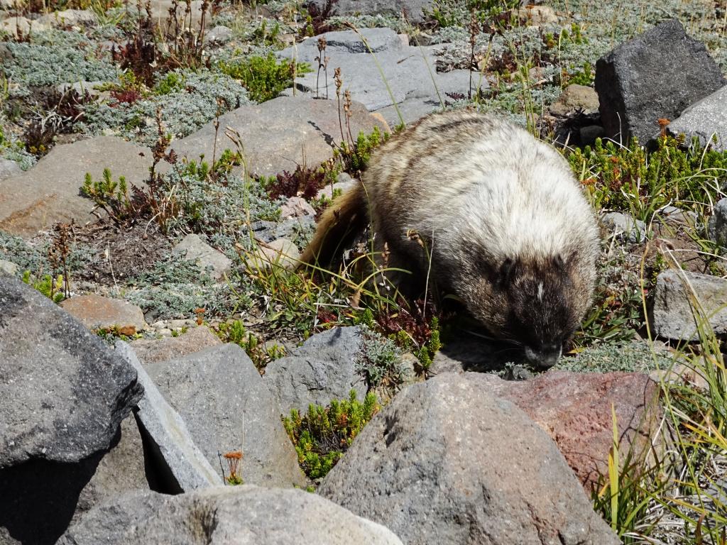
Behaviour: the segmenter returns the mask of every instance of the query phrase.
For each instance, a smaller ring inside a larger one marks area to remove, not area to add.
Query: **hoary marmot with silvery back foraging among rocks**
[[[560,153],[501,118],[433,114],[385,142],[324,212],[302,262],[329,259],[369,221],[393,265],[429,273],[543,368],[590,304],[599,239],[582,187]]]

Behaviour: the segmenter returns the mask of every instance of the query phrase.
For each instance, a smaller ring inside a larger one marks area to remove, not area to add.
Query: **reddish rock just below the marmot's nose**
[[[550,371],[510,382],[489,376],[490,391],[518,405],[558,443],[587,491],[608,475],[616,410],[621,459],[643,453],[659,421],[659,386],[646,374]]]

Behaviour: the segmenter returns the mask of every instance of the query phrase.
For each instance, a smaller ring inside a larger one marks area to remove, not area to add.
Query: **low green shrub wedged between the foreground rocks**
[[[378,411],[374,394],[367,394],[361,403],[351,390],[348,400],[332,400],[328,407],[310,405],[305,416],[295,409],[289,417],[284,416],[285,430],[305,475],[311,479],[325,477]]]

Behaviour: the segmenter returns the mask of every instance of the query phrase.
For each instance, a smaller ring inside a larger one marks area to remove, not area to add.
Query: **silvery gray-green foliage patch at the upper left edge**
[[[31,43],[9,41],[5,46],[12,58],[1,69],[6,78],[21,86],[105,81],[119,73],[110,62],[111,55],[107,52],[97,58],[89,39],[78,32],[45,31],[33,34]]]

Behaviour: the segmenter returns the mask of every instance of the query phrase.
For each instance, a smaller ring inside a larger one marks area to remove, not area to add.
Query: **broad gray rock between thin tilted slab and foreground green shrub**
[[[146,368],[210,464],[219,466],[220,453],[242,451],[244,483],[305,485],[280,406],[238,345],[210,347]]]

